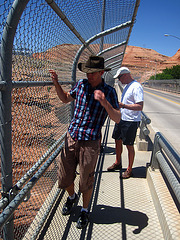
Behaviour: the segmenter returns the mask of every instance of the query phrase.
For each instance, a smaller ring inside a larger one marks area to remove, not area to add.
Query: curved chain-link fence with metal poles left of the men
[[[60,102],[48,70],[57,71],[68,91],[76,78],[85,77],[76,61],[101,55],[112,68],[105,76],[111,82],[138,5],[135,0],[0,3],[2,238],[22,239],[32,222],[44,220],[60,191],[55,159],[72,106]],[[47,213],[42,217],[41,211]]]

